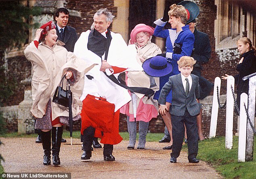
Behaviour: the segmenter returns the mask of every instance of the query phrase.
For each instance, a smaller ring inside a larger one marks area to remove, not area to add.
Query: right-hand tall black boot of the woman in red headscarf
[[[60,165],[59,151],[61,148],[62,127],[52,127],[52,164]]]

